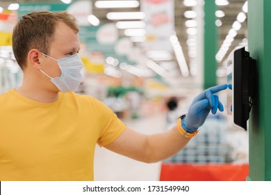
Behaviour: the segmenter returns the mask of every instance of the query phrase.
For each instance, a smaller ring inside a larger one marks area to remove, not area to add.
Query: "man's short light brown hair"
[[[58,22],[64,22],[75,33],[79,32],[76,19],[67,12],[35,11],[22,16],[13,29],[13,52],[22,70],[26,67],[26,57],[31,49],[49,54]]]

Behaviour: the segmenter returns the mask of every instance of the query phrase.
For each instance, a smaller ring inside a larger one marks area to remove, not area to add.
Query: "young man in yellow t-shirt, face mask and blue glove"
[[[145,135],[126,127],[104,104],[73,93],[83,63],[72,15],[33,12],[13,31],[22,86],[0,95],[0,180],[93,180],[96,143],[142,162],[181,150],[208,113],[223,111],[217,93],[199,94],[172,130]]]

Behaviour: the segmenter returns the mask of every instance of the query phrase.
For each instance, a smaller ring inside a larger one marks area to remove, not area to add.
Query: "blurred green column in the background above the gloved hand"
[[[204,3],[204,88],[209,88],[217,84],[216,70],[217,62],[217,26],[215,26],[215,1],[205,1]]]

